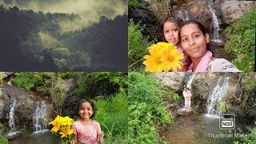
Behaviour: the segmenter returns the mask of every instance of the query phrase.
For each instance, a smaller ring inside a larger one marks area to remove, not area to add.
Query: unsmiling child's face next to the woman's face
[[[179,43],[178,25],[175,22],[165,22],[163,25],[163,35],[167,42],[172,42],[175,46]]]

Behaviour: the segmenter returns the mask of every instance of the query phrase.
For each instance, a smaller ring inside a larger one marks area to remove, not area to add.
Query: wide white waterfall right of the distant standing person
[[[230,77],[221,77],[218,79],[217,85],[207,99],[207,117],[218,118],[218,115],[222,114],[222,111],[219,110],[218,102],[222,102],[222,98],[226,96],[229,80]]]

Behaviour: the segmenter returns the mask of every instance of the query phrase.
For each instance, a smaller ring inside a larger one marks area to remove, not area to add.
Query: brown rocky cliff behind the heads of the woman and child
[[[212,14],[209,5],[215,10],[220,29],[223,30],[232,22],[238,21],[248,10],[254,1],[228,1],[228,0],[182,0],[174,3],[152,2],[150,0],[138,1],[142,7],[129,8],[129,18],[134,18],[135,22],[141,21],[152,31],[150,38],[162,39],[161,23],[168,15],[174,15],[186,19],[194,19],[201,22],[206,30],[213,34]],[[147,9],[146,9],[147,8]],[[169,10],[167,9],[169,8]],[[170,13],[170,14],[169,14]]]

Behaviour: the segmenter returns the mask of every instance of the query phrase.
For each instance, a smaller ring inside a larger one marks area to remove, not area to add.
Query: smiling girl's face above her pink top
[[[94,114],[93,107],[90,106],[89,102],[83,102],[79,108],[78,114],[82,119],[90,119],[90,117]]]

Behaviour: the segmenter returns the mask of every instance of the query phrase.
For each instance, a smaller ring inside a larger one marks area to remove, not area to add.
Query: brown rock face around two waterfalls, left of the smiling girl
[[[16,86],[5,85],[0,88],[0,120],[8,122],[10,114],[10,105],[17,100],[14,106],[14,122],[18,130],[33,130],[33,114],[38,101],[45,101],[46,114],[53,117],[50,99],[42,98],[39,95],[18,88]]]

